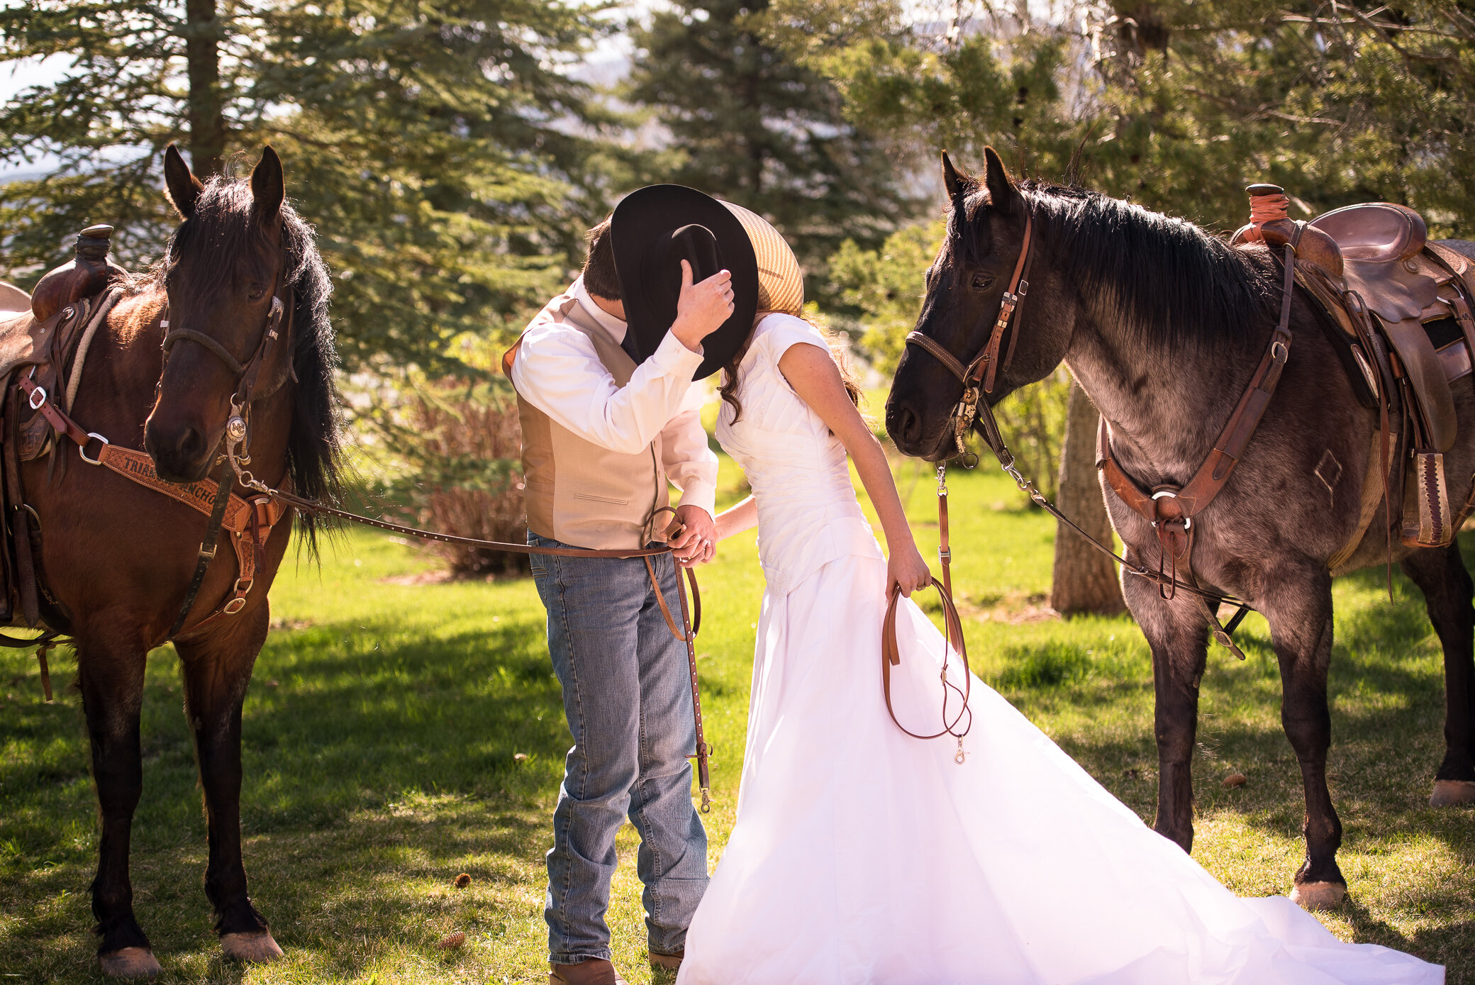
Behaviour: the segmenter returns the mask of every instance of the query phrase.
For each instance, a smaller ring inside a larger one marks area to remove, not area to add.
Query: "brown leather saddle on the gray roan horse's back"
[[[1369,470],[1361,523],[1332,559],[1333,569],[1356,550],[1384,497],[1389,516],[1401,500],[1404,543],[1450,543],[1469,512],[1466,504],[1450,516],[1443,456],[1459,429],[1451,383],[1471,376],[1475,355],[1469,258],[1428,242],[1423,218],[1403,205],[1348,205],[1295,223],[1282,189],[1248,190],[1252,220],[1233,242],[1295,248],[1297,282],[1341,329],[1339,354],[1357,370],[1354,388],[1382,419],[1386,472],[1382,462]]]

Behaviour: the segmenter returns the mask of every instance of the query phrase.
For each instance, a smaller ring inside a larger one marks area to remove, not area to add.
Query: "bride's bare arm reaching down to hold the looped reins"
[[[912,528],[907,526],[901,497],[897,495],[891,466],[886,464],[886,453],[881,450],[876,435],[870,434],[856,404],[850,401],[833,357],[817,345],[799,342],[779,357],[779,372],[789,380],[794,392],[839,438],[856,463],[856,472],[860,473],[860,481],[870,494],[870,503],[876,507],[876,516],[881,518],[886,547],[891,549],[886,562],[891,584],[901,585],[901,594],[906,596],[925,588],[931,584],[932,572],[928,571],[916,541],[912,540]]]

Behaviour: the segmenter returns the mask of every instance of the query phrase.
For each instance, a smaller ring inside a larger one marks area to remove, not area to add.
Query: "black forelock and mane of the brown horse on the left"
[[[242,252],[264,255],[270,249],[258,223],[251,220],[251,183],[248,178],[212,177],[195,202],[195,212],[174,230],[165,257],[192,245],[209,243],[208,255],[221,264]],[[286,255],[286,282],[292,286],[292,370],[296,395],[292,428],[288,435],[288,475],[292,492],[311,500],[335,501],[342,492],[342,441],[339,436],[339,395],[335,372],[338,352],[327,320],[333,282],[317,252],[313,227],[291,206],[282,203],[282,248]],[[136,285],[162,289],[167,262],[153,267],[152,277]],[[230,277],[232,268],[220,271]],[[317,521],[298,512],[298,522],[310,553],[317,550]]]

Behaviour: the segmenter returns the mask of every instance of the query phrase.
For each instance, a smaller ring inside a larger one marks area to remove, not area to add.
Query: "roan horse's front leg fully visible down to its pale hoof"
[[[1295,873],[1291,899],[1307,910],[1335,907],[1347,897],[1336,866],[1342,821],[1326,787],[1326,751],[1332,712],[1326,671],[1332,662],[1332,575],[1313,563],[1289,563],[1266,574],[1260,610],[1280,662],[1280,724],[1301,764],[1305,789],[1305,861]]]

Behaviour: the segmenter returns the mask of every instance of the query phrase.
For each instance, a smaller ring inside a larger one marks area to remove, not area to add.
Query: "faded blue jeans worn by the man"
[[[528,543],[565,546],[531,532]],[[677,615],[676,565],[670,554],[650,562]],[[686,644],[671,636],[639,557],[532,554],[532,578],[574,733],[547,854],[549,960],[609,958],[605,911],[627,815],[640,835],[649,947],[677,954],[708,880],[686,759],[696,751]]]

